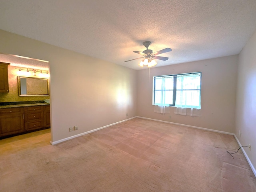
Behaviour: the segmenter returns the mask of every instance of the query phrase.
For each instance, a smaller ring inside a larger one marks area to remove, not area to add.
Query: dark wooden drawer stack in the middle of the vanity
[[[44,127],[44,106],[24,107],[25,131]]]

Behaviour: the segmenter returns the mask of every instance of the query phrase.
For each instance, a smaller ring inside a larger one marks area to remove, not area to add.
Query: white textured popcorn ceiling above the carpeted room
[[[256,0],[0,0],[0,29],[132,69],[151,41],[160,67],[240,53]]]

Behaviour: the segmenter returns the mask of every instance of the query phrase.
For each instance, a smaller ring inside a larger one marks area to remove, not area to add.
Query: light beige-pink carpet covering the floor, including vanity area
[[[1,192],[256,191],[232,135],[135,118],[57,145],[18,137],[0,140]]]

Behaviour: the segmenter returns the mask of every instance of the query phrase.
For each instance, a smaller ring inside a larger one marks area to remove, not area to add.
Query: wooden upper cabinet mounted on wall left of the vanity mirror
[[[9,92],[8,65],[10,63],[0,62],[0,92]]]

